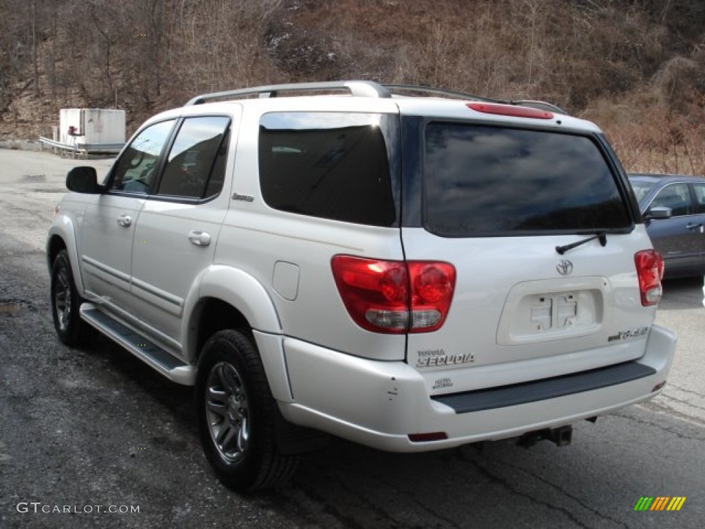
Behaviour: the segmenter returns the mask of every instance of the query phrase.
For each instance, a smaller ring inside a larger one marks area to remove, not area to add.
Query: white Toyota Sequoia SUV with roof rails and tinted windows
[[[90,326],[195,384],[204,451],[241,491],[325,434],[560,445],[658,394],[663,261],[599,128],[440,92],[204,95],[103,183],[73,169],[47,241],[61,341]]]

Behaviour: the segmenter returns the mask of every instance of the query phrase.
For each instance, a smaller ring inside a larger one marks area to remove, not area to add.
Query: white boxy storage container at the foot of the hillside
[[[64,145],[125,143],[125,111],[61,109],[59,142]]]

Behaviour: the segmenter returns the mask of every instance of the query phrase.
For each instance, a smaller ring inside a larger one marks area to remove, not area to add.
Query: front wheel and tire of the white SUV
[[[90,338],[90,326],[79,313],[82,298],[73,281],[71,262],[66,250],[61,250],[51,265],[51,316],[59,339],[70,347],[85,345]]]

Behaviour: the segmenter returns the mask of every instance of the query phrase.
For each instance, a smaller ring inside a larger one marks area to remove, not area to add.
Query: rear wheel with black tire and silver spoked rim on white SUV
[[[203,450],[219,480],[237,492],[286,482],[298,457],[276,446],[278,409],[255,345],[234,330],[203,346],[196,378],[196,416]]]

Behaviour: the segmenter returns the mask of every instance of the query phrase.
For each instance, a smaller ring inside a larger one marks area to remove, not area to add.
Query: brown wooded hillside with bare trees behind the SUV
[[[0,0],[0,140],[202,92],[372,79],[546,99],[630,170],[705,174],[701,0]]]

